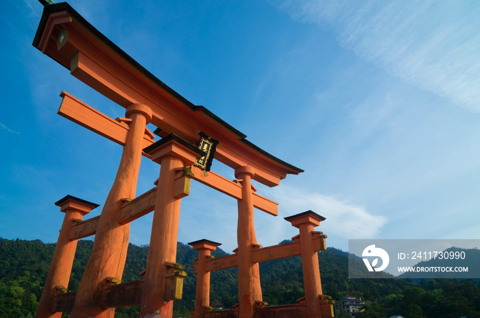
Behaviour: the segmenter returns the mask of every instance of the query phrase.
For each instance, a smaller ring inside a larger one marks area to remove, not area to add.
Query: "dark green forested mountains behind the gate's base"
[[[79,241],[69,290],[82,278],[93,241]],[[54,244],[0,238],[0,317],[32,317],[42,293]],[[139,279],[147,263],[148,247],[130,244],[123,282]],[[221,249],[215,257],[224,256]],[[178,243],[177,262],[185,265],[183,298],[175,302],[174,317],[185,316],[195,304],[193,260],[197,252]],[[406,318],[480,317],[480,286],[473,280],[422,280],[415,284],[398,279],[349,279],[348,256],[329,248],[319,254],[323,292],[339,300],[346,295],[366,300],[363,318],[403,315]],[[270,305],[295,303],[304,295],[300,257],[261,263],[263,299]],[[211,302],[225,308],[238,302],[237,269],[211,273]],[[117,308],[116,317],[138,317],[139,306]],[[68,317],[68,313],[64,313]]]

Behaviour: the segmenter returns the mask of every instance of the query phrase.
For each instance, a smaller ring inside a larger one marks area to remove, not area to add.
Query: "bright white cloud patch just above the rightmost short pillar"
[[[289,186],[271,189],[268,197],[278,201],[283,211],[304,212],[312,210],[326,217],[322,230],[343,238],[374,238],[387,218],[372,215],[363,206],[350,204],[335,197],[302,191]],[[290,214],[291,215],[291,214]]]

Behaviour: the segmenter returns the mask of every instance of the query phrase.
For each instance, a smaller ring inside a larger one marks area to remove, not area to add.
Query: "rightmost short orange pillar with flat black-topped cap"
[[[320,280],[318,254],[313,247],[313,232],[315,226],[320,225],[320,221],[324,221],[325,218],[309,210],[285,219],[300,230],[300,251],[302,255],[307,318],[322,317],[320,308],[322,282]]]

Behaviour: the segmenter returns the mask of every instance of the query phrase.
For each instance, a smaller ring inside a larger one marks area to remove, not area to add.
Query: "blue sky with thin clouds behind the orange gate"
[[[180,95],[305,170],[255,184],[280,204],[278,217],[255,211],[260,244],[295,236],[283,217],[305,210],[326,217],[318,230],[344,250],[348,238],[479,238],[479,2],[69,3]],[[41,12],[34,0],[1,12],[0,236],[55,242],[53,203],[103,204],[121,155],[56,114],[60,91],[112,118],[124,109],[32,47]],[[143,158],[137,195],[159,168]],[[132,222],[130,241],[148,244],[151,224]],[[236,227],[230,197],[193,184],[182,199],[179,241],[230,252]]]

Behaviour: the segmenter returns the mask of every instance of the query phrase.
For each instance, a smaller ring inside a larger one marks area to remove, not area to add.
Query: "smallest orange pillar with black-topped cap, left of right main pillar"
[[[211,251],[215,251],[220,243],[206,239],[189,243],[198,251],[197,258],[197,292],[195,294],[195,318],[205,317],[205,307],[210,306],[210,271],[206,270],[206,261],[211,258]]]

